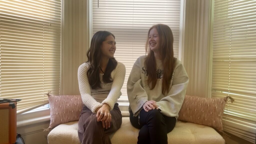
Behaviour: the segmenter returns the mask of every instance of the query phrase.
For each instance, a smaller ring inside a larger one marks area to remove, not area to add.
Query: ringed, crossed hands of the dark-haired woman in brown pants
[[[110,122],[112,120],[111,114],[110,114],[110,106],[108,104],[103,104],[102,107],[97,108],[97,121],[102,122],[103,128],[110,128]]]

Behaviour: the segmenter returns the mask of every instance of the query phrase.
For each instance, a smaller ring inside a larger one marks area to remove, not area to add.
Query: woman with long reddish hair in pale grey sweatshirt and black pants
[[[174,57],[173,33],[157,24],[148,31],[147,56],[139,57],[127,81],[132,125],[140,129],[138,144],[167,144],[185,97],[188,76]]]

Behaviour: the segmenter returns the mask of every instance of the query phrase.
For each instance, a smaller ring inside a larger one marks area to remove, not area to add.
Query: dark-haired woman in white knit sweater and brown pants
[[[116,102],[122,95],[125,66],[114,58],[115,44],[112,33],[95,33],[87,52],[88,61],[78,68],[79,90],[84,104],[78,122],[82,144],[109,144],[109,135],[122,124]]]

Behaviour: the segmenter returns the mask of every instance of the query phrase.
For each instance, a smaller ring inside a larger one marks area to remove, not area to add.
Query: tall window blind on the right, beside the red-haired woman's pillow
[[[212,97],[231,96],[224,130],[255,143],[256,1],[215,0]]]

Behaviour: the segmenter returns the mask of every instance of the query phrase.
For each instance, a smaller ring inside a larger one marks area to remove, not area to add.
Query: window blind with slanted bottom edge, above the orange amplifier
[[[60,23],[60,0],[0,0],[0,94],[18,113],[59,94]]]

